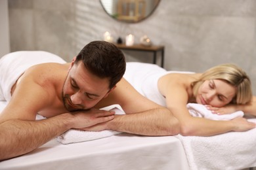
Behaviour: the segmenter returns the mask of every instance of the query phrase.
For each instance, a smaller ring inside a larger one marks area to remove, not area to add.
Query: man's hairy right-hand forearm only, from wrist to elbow
[[[162,108],[117,115],[106,124],[107,129],[138,135],[164,136],[179,133],[178,120],[167,109]]]

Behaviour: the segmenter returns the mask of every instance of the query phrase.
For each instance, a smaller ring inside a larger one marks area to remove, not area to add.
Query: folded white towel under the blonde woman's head
[[[234,118],[244,116],[244,112],[241,110],[233,112],[232,114],[213,114],[211,110],[208,110],[204,105],[198,103],[188,103],[186,108],[188,108],[191,116],[207,118],[211,120],[232,120]]]

